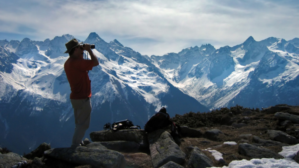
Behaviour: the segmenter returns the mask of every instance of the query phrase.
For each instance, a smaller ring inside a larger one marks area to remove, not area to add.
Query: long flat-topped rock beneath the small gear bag
[[[90,133],[90,138],[93,142],[105,141],[133,141],[140,145],[142,148],[149,146],[146,136],[144,136],[143,129],[124,129],[118,131],[103,130]]]

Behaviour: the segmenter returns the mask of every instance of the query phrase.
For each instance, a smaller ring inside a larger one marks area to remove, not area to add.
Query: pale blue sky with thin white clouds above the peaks
[[[178,53],[249,36],[299,37],[297,0],[9,0],[0,1],[0,40],[35,41],[91,32],[143,55]]]

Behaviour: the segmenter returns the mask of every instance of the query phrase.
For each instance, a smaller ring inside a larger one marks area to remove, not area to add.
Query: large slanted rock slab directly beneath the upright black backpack
[[[167,131],[158,129],[148,133],[148,141],[153,167],[160,167],[169,161],[179,165],[184,163],[186,154],[174,142]]]

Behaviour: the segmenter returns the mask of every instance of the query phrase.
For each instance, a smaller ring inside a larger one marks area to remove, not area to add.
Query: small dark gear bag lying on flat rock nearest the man
[[[138,125],[134,126],[133,122],[128,119],[117,121],[113,124],[107,123],[104,125],[105,130],[112,129],[113,131],[118,131],[121,129],[138,129],[138,127],[140,128]]]

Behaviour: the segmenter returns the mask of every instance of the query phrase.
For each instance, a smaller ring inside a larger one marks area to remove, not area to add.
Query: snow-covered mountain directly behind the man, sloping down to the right
[[[63,65],[69,57],[64,54],[64,44],[73,38],[63,35],[43,42],[28,38],[0,41],[1,146],[21,149],[16,151],[20,153],[42,142],[53,147],[70,146],[74,117]],[[96,33],[91,33],[85,43],[96,45],[93,52],[100,62],[89,71],[93,111],[86,137],[108,122],[124,119],[143,128],[163,106],[171,116],[208,111],[169,83],[149,57],[117,40],[107,43]]]

